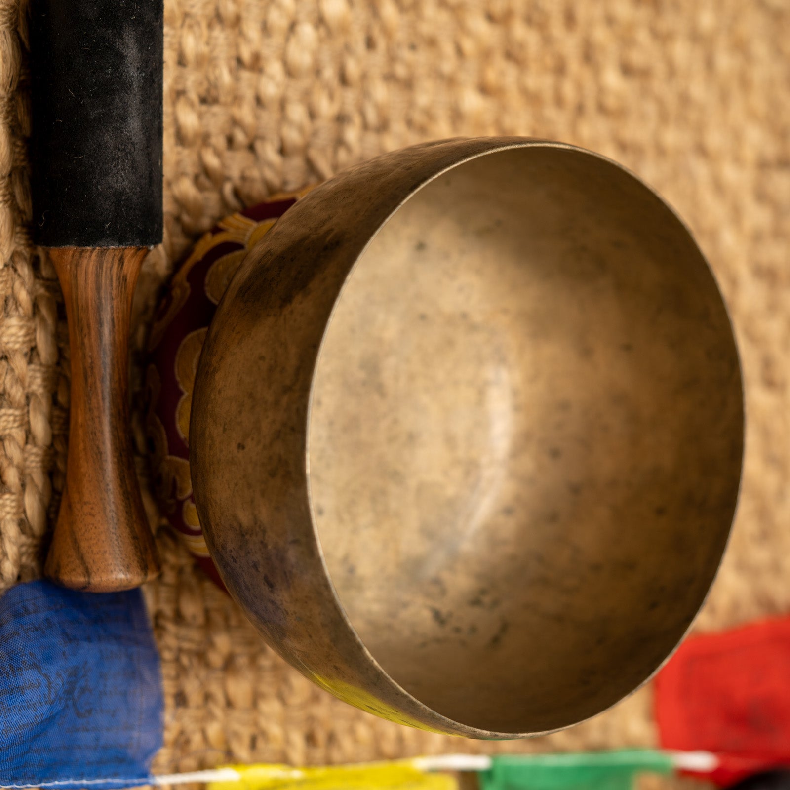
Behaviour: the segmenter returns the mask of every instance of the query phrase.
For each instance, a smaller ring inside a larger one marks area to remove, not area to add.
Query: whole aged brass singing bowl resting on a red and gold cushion
[[[672,653],[739,490],[743,392],[690,232],[602,156],[379,156],[248,254],[198,367],[209,550],[281,656],[378,715],[566,727]]]

